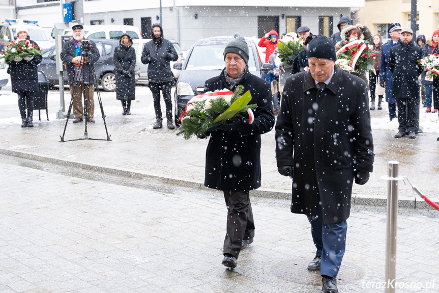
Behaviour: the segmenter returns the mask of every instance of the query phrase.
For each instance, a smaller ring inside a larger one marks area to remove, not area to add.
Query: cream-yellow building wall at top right
[[[419,34],[431,38],[439,29],[439,2],[418,0]],[[376,24],[399,22],[403,28],[410,27],[407,15],[411,12],[410,0],[374,0],[366,1],[359,10],[359,21],[367,25],[372,34],[376,33]]]

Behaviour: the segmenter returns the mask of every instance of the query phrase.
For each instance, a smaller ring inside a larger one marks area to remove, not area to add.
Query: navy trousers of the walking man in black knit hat
[[[311,224],[312,240],[317,249],[315,255],[321,257],[320,275],[335,278],[346,248],[347,223],[343,221],[324,225],[321,204],[317,204],[316,217],[308,217],[308,221]]]

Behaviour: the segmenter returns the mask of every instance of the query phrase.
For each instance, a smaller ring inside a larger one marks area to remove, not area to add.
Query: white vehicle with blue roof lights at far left
[[[22,20],[22,19],[6,19],[0,24],[0,50],[18,38],[16,28],[19,24],[26,26],[29,33],[27,34],[31,40],[35,41],[41,49],[46,49],[54,45],[54,41],[50,40],[46,33],[37,24],[38,21]]]

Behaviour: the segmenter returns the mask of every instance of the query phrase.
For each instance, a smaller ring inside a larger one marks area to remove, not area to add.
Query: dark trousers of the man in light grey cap
[[[418,130],[416,109],[419,108],[419,97],[397,98],[396,102],[398,103],[398,131],[415,132]]]

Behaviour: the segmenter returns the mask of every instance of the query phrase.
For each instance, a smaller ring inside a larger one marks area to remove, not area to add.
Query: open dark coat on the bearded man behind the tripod
[[[84,63],[82,66],[82,72],[84,74],[84,83],[94,84],[94,77],[91,73],[93,73],[90,63],[96,63],[99,60],[100,54],[99,50],[96,47],[95,42],[91,41],[92,47],[90,48],[90,52],[92,55],[87,55],[87,58],[91,61],[89,63]],[[67,77],[69,79],[69,85],[72,85],[75,78],[75,64],[71,63],[72,59],[75,58],[75,42],[67,41],[63,45],[63,49],[61,50],[61,60],[67,65]],[[96,68],[96,67],[95,67]],[[99,78],[99,76],[96,76]]]

